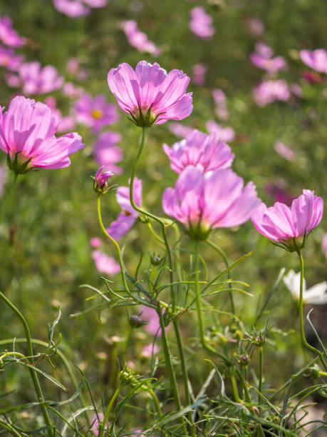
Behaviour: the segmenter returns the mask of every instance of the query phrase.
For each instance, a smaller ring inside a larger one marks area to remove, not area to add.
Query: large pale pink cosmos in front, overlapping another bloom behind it
[[[193,166],[182,171],[175,189],[166,189],[162,197],[165,213],[197,239],[207,238],[214,228],[245,223],[259,204],[253,182],[244,187],[243,179],[231,169],[202,173]]]

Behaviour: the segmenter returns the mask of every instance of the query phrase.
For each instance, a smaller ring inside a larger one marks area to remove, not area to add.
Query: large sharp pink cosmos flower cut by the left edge
[[[8,111],[0,113],[0,148],[8,154],[9,168],[21,174],[35,167],[69,166],[68,156],[84,144],[76,132],[56,138],[59,121],[45,104],[24,96],[14,97]]]

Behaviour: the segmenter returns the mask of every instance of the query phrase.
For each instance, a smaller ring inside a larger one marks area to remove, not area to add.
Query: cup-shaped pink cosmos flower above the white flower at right
[[[251,220],[262,235],[281,243],[289,251],[295,251],[305,246],[306,237],[318,226],[322,215],[323,199],[315,196],[313,191],[303,190],[291,207],[276,202],[267,208],[261,203]]]

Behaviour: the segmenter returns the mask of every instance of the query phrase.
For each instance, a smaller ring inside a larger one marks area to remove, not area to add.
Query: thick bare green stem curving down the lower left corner
[[[11,301],[9,301],[9,299],[7,299],[6,296],[4,296],[3,293],[1,293],[1,291],[0,291],[0,298],[4,301],[4,303],[6,303],[12,309],[12,311],[14,311],[16,316],[18,316],[19,319],[21,320],[21,323],[23,324],[24,330],[25,330],[28,356],[30,356],[31,365],[35,366],[34,358],[33,358],[33,347],[32,347],[32,341],[31,341],[31,333],[29,331],[28,323],[26,321],[26,318],[16,308],[16,306],[14,306],[13,303],[11,303]],[[32,380],[33,380],[33,385],[34,385],[34,388],[35,388],[35,391],[36,391],[36,395],[38,397],[38,402],[42,404],[42,403],[44,403],[44,398],[43,398],[43,394],[42,394],[42,391],[41,391],[40,383],[38,382],[38,375],[37,375],[36,371],[33,368],[29,368],[29,370],[31,372],[31,377],[32,377]],[[54,429],[53,429],[53,425],[51,424],[50,417],[48,415],[48,410],[47,410],[45,405],[40,405],[40,407],[41,407],[41,411],[42,411],[42,414],[43,414],[44,421],[46,422],[46,425],[48,426],[48,435],[50,437],[53,437],[54,436]]]

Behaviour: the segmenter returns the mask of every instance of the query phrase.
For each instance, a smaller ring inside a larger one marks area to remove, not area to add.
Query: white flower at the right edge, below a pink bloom
[[[283,281],[292,296],[299,301],[300,298],[300,285],[301,285],[301,273],[295,273],[294,270],[290,270],[287,275],[284,276]],[[303,278],[303,302],[312,303],[313,305],[323,305],[327,303],[327,282],[317,283],[315,286],[306,289],[306,280]]]

